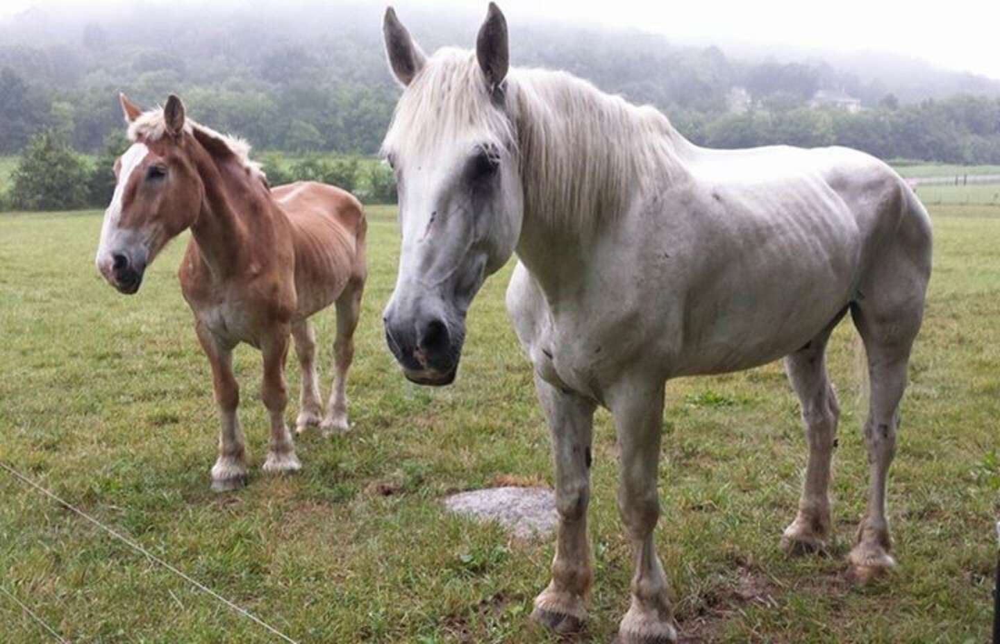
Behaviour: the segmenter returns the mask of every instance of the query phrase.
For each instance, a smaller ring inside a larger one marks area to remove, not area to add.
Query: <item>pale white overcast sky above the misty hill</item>
[[[192,0],[139,0],[150,4],[197,5]],[[226,4],[251,6],[260,2]],[[294,0],[292,0],[294,2]],[[337,0],[327,0],[336,3]],[[32,6],[52,4],[84,12],[87,7],[137,4],[136,0],[0,0],[0,18]],[[212,4],[219,4],[213,2]],[[486,2],[394,0],[407,8],[480,6]],[[1000,79],[1000,1],[951,0],[500,0],[511,29],[518,19],[566,19],[577,23],[636,27],[678,41],[785,45],[841,52],[879,50],[922,58],[947,69]],[[462,43],[456,43],[462,44]]]

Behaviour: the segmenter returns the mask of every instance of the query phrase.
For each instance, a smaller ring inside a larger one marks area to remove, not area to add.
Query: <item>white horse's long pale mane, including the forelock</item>
[[[683,173],[679,154],[689,143],[653,107],[541,69],[511,69],[505,91],[506,112],[494,105],[474,52],[437,51],[396,106],[383,153],[433,155],[445,141],[497,144],[519,162],[525,215],[581,231],[624,212],[637,184]]]

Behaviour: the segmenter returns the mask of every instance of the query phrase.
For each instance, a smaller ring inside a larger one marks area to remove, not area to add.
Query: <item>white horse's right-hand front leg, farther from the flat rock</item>
[[[656,489],[663,425],[663,383],[628,382],[611,392],[621,449],[618,509],[632,541],[632,603],[618,629],[621,644],[675,642],[667,577],[656,556],[653,531],[660,516]]]

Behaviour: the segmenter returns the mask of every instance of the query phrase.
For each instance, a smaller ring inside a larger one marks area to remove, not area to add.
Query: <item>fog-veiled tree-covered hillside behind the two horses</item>
[[[124,129],[117,93],[152,106],[174,92],[196,120],[299,159],[272,164],[275,183],[343,179],[350,161],[329,155],[375,154],[399,95],[386,69],[380,9],[300,9],[308,16],[209,7],[197,21],[169,8],[79,17],[40,9],[0,23],[0,155],[97,155],[63,167],[89,171],[87,199],[99,203],[96,186],[107,173],[97,178],[97,166]],[[470,45],[468,25],[478,24],[476,16],[431,12],[407,22],[427,51]],[[982,77],[919,67],[874,77],[824,61],[739,60],[658,35],[544,23],[518,25],[512,37],[513,63],[566,69],[655,105],[698,144],[839,144],[886,159],[1000,163],[1000,82]],[[738,112],[733,88],[748,97]],[[819,89],[845,92],[864,109],[813,109]],[[355,185],[391,193],[373,167],[359,161]],[[79,189],[72,192],[75,202]],[[24,203],[21,195],[7,199]]]

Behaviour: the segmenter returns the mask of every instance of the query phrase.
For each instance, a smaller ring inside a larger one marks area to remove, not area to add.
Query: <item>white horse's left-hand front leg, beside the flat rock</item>
[[[592,578],[587,541],[590,500],[590,442],[594,404],[563,393],[535,375],[535,389],[552,431],[559,534],[552,581],[535,598],[536,621],[560,633],[580,630]]]

